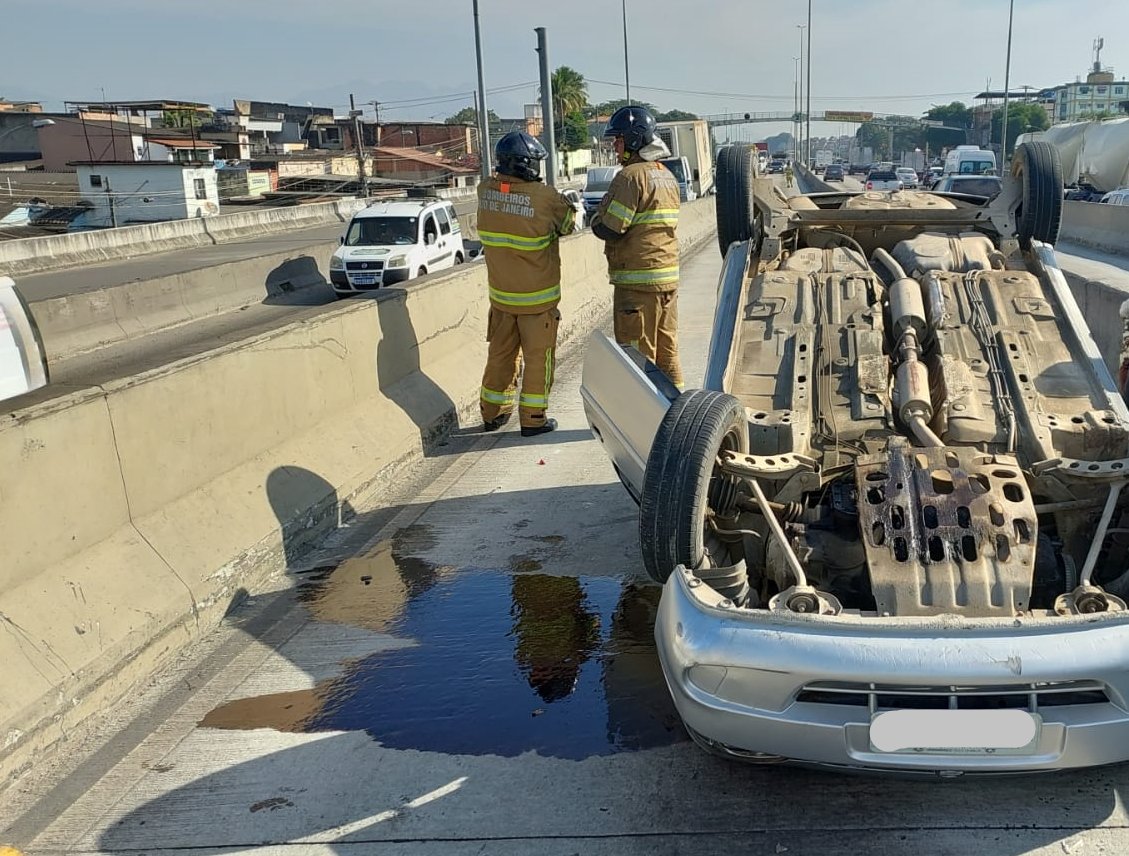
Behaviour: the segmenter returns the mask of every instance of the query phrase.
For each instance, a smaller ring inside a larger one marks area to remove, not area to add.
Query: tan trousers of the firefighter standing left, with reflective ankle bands
[[[517,396],[522,427],[540,428],[545,423],[560,318],[555,307],[536,315],[514,315],[490,307],[487,321],[490,349],[479,401],[483,422],[492,422],[514,410],[517,373],[524,361],[522,393]]]

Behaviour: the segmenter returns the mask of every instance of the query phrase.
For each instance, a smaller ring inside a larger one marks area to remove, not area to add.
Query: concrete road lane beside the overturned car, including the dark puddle
[[[691,383],[719,264],[711,245],[684,264]],[[580,357],[559,367],[555,434],[461,433],[402,495],[347,510],[15,783],[0,840],[36,856],[1129,853],[1127,767],[922,781],[697,749],[655,658],[637,509],[585,427]]]

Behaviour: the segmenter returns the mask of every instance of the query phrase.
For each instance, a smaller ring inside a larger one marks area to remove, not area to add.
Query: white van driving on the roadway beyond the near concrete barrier
[[[338,297],[371,291],[466,261],[454,206],[443,199],[374,202],[353,215],[330,259]]]

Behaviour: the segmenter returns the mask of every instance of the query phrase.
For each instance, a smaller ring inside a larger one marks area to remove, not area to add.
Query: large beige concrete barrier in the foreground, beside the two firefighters
[[[684,250],[712,234],[714,200],[683,206]],[[567,344],[607,317],[611,287],[590,234],[561,253]],[[469,264],[0,417],[0,775],[475,422],[487,313]]]

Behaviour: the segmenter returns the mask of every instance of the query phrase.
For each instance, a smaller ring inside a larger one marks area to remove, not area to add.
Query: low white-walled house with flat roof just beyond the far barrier
[[[82,226],[106,228],[219,213],[216,167],[167,160],[77,161]]]

